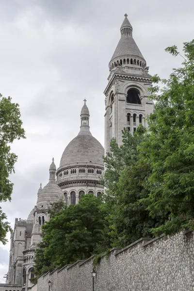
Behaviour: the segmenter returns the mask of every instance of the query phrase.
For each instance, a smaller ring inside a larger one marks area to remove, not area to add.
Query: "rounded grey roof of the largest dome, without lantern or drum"
[[[77,163],[93,163],[103,165],[104,148],[97,141],[95,137],[89,132],[80,132],[69,144],[66,146],[61,162],[60,168],[68,165],[76,165]]]

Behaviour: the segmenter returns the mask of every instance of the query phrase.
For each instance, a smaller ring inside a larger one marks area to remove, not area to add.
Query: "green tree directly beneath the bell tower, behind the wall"
[[[123,145],[111,141],[111,150],[105,157],[104,175],[107,217],[111,227],[112,246],[126,246],[143,236],[150,236],[150,228],[160,220],[149,216],[146,203],[139,199],[149,194],[147,178],[149,162],[140,161],[138,146],[145,140],[146,129],[140,126],[134,135],[123,130]],[[161,218],[160,218],[161,219]]]

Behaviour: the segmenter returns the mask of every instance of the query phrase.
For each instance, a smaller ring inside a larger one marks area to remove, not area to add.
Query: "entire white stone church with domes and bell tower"
[[[63,199],[67,205],[79,203],[81,194],[103,191],[99,177],[104,173],[103,156],[115,138],[122,144],[122,129],[133,134],[142,124],[147,127],[146,115],[154,109],[148,99],[151,86],[149,67],[132,37],[132,26],[125,15],[121,25],[121,38],[109,63],[108,85],[105,94],[105,149],[90,132],[90,114],[84,100],[81,109],[81,126],[78,135],[65,147],[56,169],[54,159],[49,167],[49,182],[37,193],[36,206],[27,220],[16,218],[9,257],[6,284],[0,291],[31,290],[34,251],[41,241],[41,226],[49,220],[45,210],[51,203]]]

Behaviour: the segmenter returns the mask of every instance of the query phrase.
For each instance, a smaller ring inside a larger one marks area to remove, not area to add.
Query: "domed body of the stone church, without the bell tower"
[[[49,220],[45,210],[52,203],[64,200],[68,205],[77,204],[82,194],[93,193],[99,196],[103,191],[99,177],[104,174],[104,148],[90,132],[89,116],[84,102],[80,132],[65,148],[57,170],[57,181],[53,159],[49,167],[49,183],[43,189],[40,185],[36,205],[28,219],[16,218],[14,232],[11,233],[7,284],[0,284],[0,291],[12,290],[13,284],[17,284],[22,291],[32,289],[30,279],[34,276],[34,252],[37,243],[41,241],[41,226]]]

